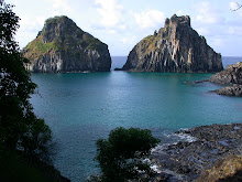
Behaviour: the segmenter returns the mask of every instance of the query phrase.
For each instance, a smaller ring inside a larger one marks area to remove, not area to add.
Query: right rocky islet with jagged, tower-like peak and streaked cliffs
[[[133,72],[218,72],[221,55],[191,29],[189,17],[173,15],[160,29],[139,42],[128,56],[123,71]]]

